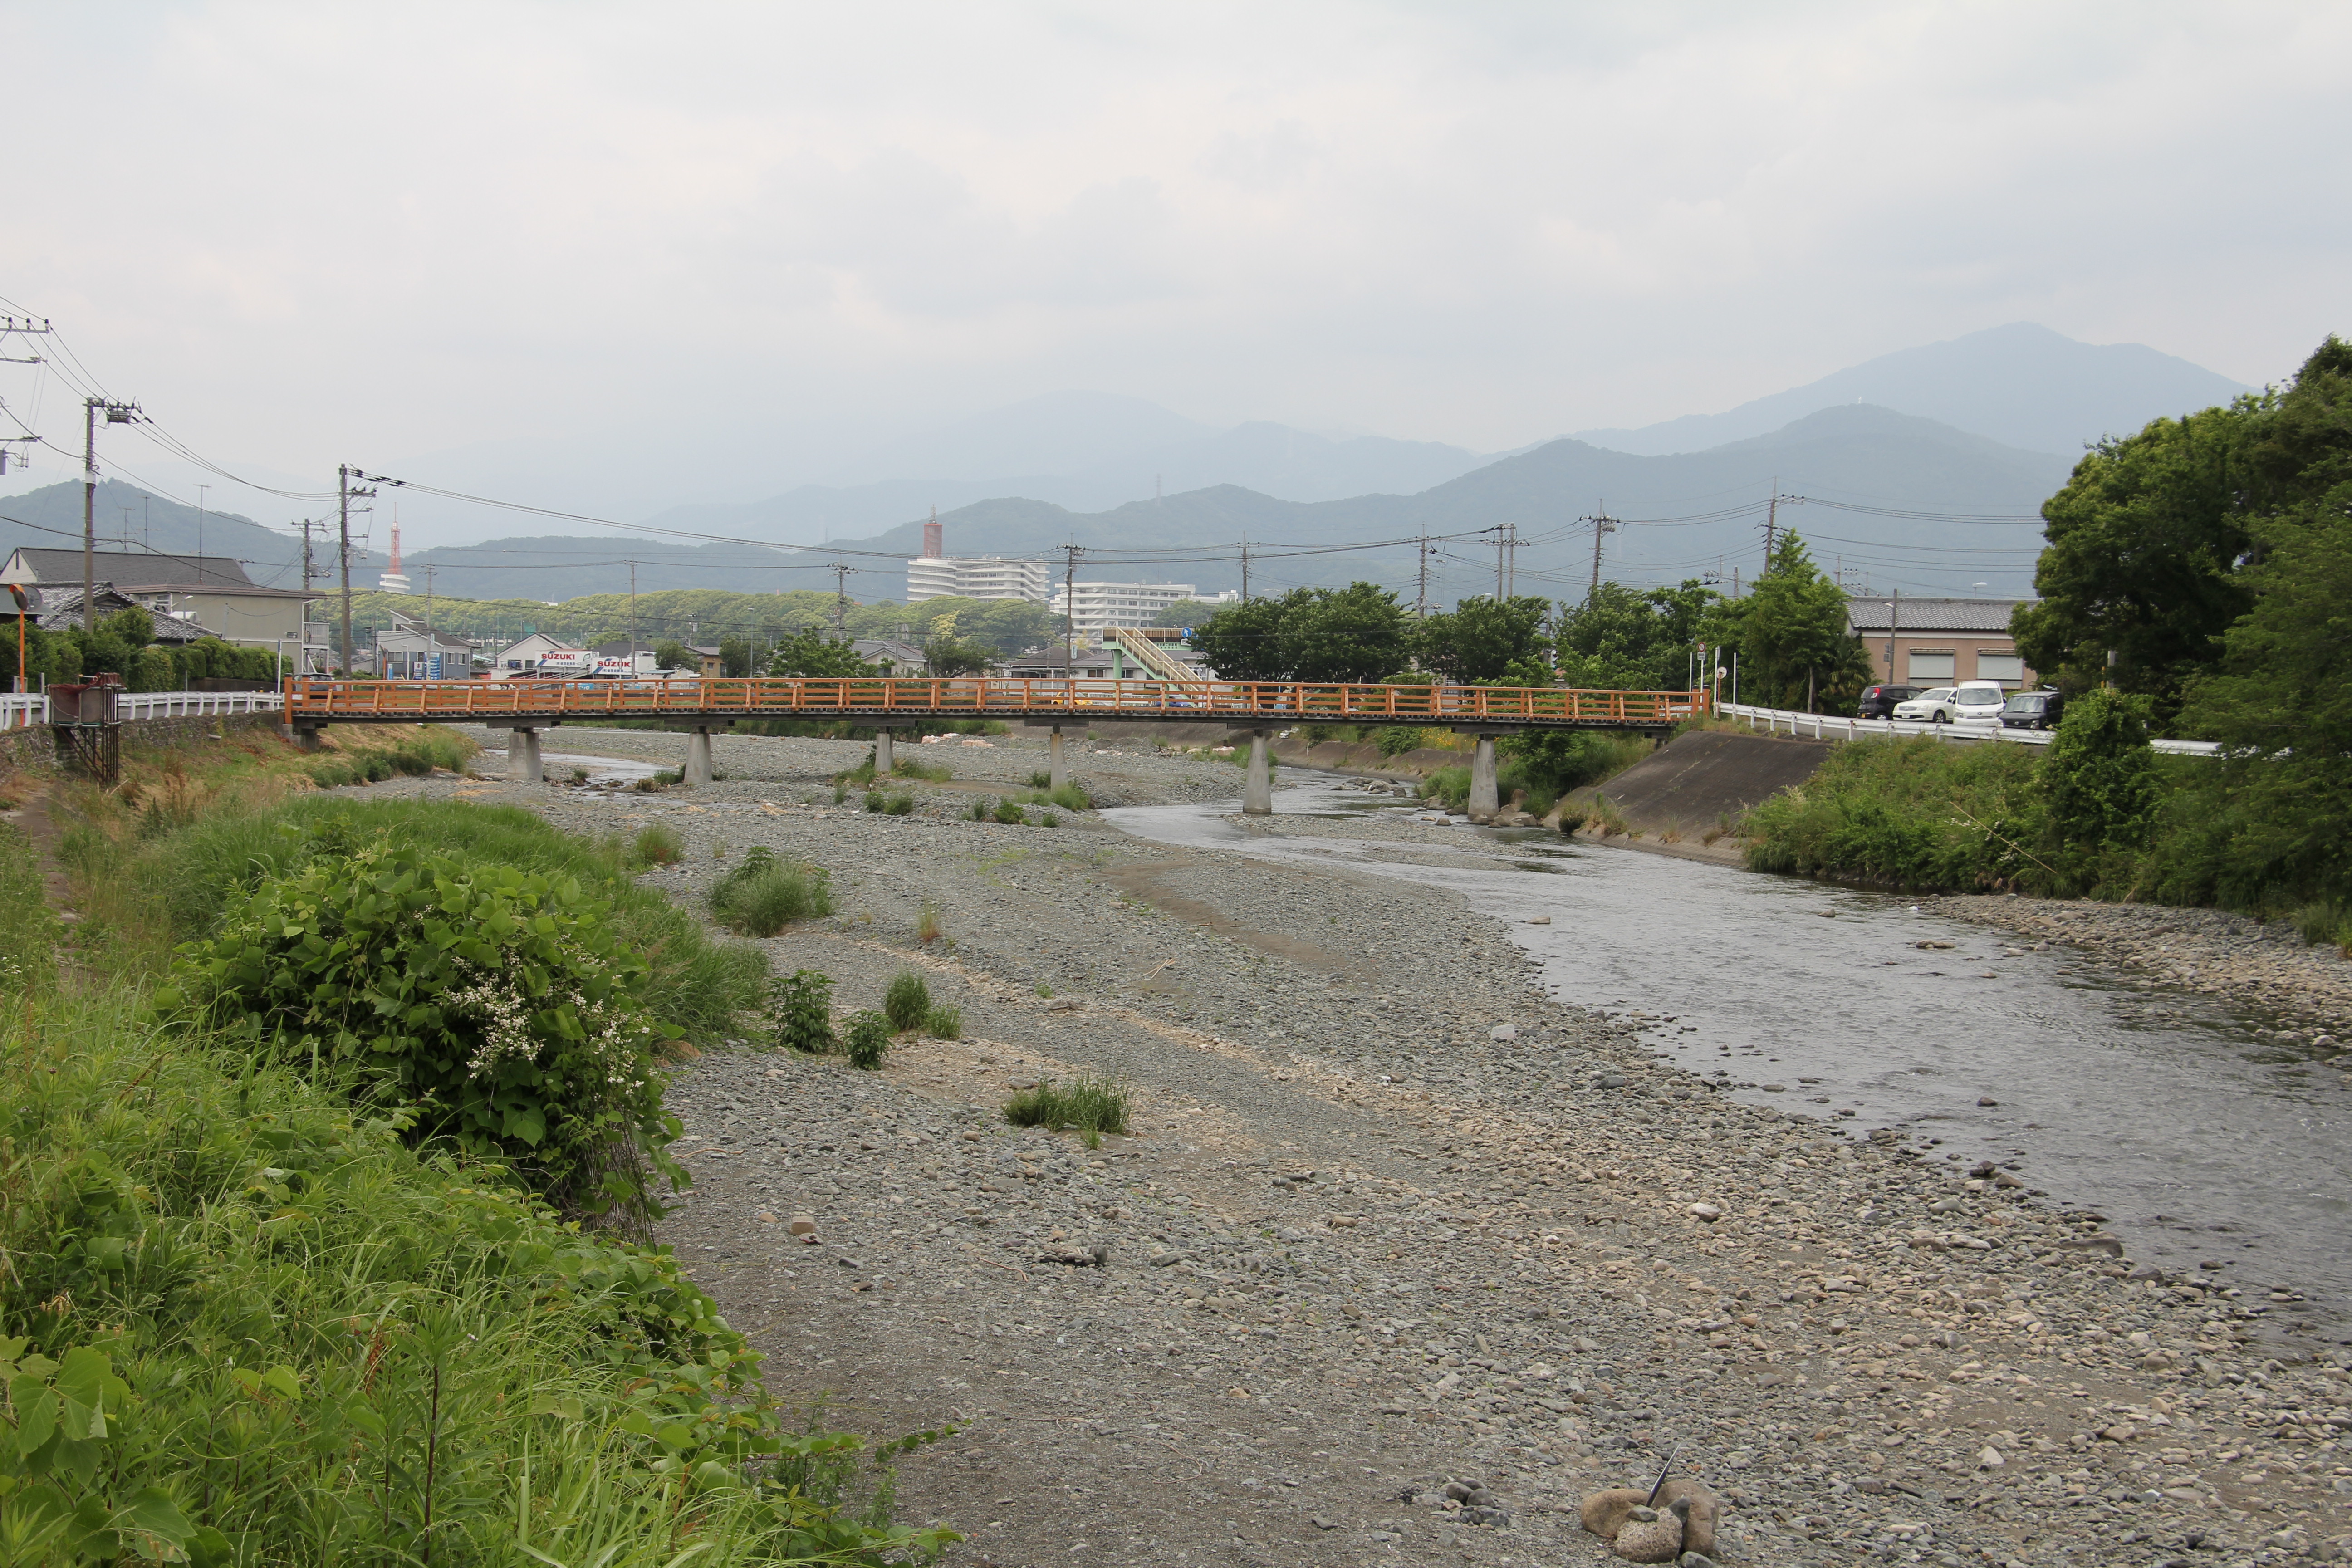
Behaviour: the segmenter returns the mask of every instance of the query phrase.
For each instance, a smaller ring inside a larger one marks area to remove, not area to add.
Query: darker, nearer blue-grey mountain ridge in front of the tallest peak
[[[1581,522],[1606,508],[1625,527],[1604,541],[1604,576],[1621,581],[1679,581],[1717,564],[1755,576],[1764,505],[1773,494],[1816,503],[1879,510],[1969,512],[2013,522],[1950,524],[1858,515],[1825,505],[1788,503],[1780,527],[1813,541],[1825,569],[1851,564],[1856,581],[1886,581],[1912,590],[2025,592],[2042,545],[2037,510],[2056,491],[2070,461],[2018,451],[1929,418],[1872,407],[1823,409],[1771,435],[1677,456],[1635,456],[1588,442],[1557,440],[1486,463],[1414,496],[1355,496],[1296,503],[1221,484],[1162,501],[1131,501],[1103,512],[1073,512],[1035,498],[993,498],[941,512],[955,555],[1051,555],[1077,543],[1096,552],[1082,562],[1089,578],[1176,581],[1202,592],[1237,588],[1235,543],[1256,541],[1251,590],[1371,578],[1418,588],[1418,543],[1334,555],[1284,555],[1355,541],[1414,541],[1468,534],[1498,522],[1519,527],[1519,592],[1576,597],[1590,583],[1592,529]],[[1705,517],[1733,508],[1736,517]],[[844,550],[913,555],[922,529],[906,524],[873,538],[835,541]],[[1884,555],[1886,545],[1936,545],[1945,555]],[[1185,559],[1183,550],[1202,550]],[[1120,557],[1148,557],[1120,562]],[[1494,592],[1491,541],[1444,538],[1435,545],[1432,599]],[[873,592],[866,588],[866,592]]]

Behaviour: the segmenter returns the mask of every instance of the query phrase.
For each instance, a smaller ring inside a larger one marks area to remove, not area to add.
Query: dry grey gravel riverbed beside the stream
[[[1451,893],[964,820],[1044,766],[1030,741],[920,748],[957,778],[903,785],[910,816],[835,806],[861,755],[722,736],[701,790],[369,792],[663,823],[687,858],[647,882],[689,905],[755,844],[814,860],[835,914],[760,943],[774,969],[840,1011],[913,969],[962,1009],[880,1072],[696,1041],[696,1185],[661,1227],[781,1396],[967,1422],[898,1483],[969,1535],[950,1561],[1602,1563],[1576,1502],[1670,1453],[1729,1505],[1719,1561],[2352,1554],[2352,1373],[2272,1345],[2260,1288],[2145,1276],[2030,1171],[1731,1103],[1646,1044],[1672,1018],[1545,999]],[[1105,804],[1237,792],[1138,743],[1073,773]],[[1129,1138],[1002,1121],[1080,1072],[1124,1079]]]

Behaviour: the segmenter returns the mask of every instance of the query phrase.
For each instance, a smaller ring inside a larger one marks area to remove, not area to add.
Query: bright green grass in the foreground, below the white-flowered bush
[[[12,832],[0,938],[7,1561],[717,1568],[931,1544],[858,1523],[887,1469],[795,1432],[673,1258],[158,1030],[87,929],[59,985]],[[64,1415],[47,1439],[38,1410]]]

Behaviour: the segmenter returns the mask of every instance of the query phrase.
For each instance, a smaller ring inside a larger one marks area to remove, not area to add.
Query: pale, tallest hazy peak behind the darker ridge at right
[[[2049,327],[2011,322],[1950,343],[1900,348],[1726,414],[1684,414],[1639,430],[1578,430],[1576,440],[1644,456],[1708,451],[1818,409],[1867,402],[2072,458],[2103,435],[2129,435],[2161,414],[2190,414],[2244,390],[2145,343],[2077,343]]]

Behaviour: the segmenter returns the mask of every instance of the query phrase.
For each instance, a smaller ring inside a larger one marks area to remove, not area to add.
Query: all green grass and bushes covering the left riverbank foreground
[[[626,1239],[757,959],[520,811],[209,804],[56,790],[73,924],[0,827],[9,1561],[934,1556],[931,1434],[804,1429]]]

